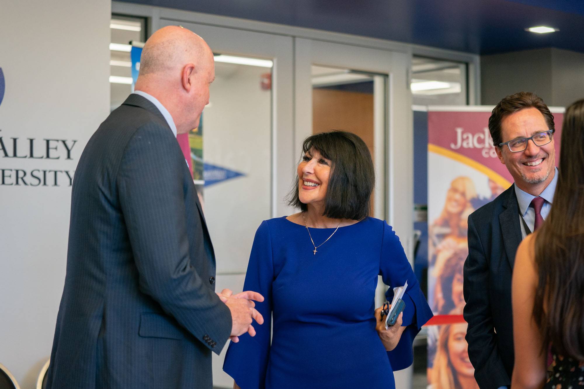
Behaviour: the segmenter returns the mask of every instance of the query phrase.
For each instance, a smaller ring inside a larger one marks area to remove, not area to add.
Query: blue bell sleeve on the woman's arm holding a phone
[[[389,286],[387,293],[385,293],[387,301],[391,303],[394,298],[394,287],[404,286],[405,282],[408,282],[408,288],[402,298],[405,303],[402,327],[406,327],[406,329],[395,349],[387,352],[391,367],[396,371],[405,369],[413,363],[413,338],[420,332],[422,325],[432,318],[433,314],[398,236],[385,222],[383,228],[379,270],[383,282]]]

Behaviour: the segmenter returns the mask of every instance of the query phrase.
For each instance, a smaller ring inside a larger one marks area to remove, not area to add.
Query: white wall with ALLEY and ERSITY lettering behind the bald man
[[[67,258],[75,166],[109,113],[111,2],[20,0],[0,12],[0,363],[33,388],[50,356]],[[18,156],[11,158],[13,140]],[[33,157],[30,158],[30,139]],[[46,143],[51,149],[48,157]],[[70,158],[61,142],[71,148]],[[26,172],[25,185],[16,175]],[[12,185],[10,185],[12,184]]]

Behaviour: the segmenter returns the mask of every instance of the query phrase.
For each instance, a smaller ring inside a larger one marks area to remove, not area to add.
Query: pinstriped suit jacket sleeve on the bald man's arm
[[[154,123],[138,128],[117,175],[121,210],[140,290],[218,354],[231,333],[231,313],[191,262],[184,169],[168,128]],[[216,342],[214,348],[204,335]]]

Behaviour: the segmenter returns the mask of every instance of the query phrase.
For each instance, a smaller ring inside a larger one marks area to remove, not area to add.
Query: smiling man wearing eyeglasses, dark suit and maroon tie
[[[481,389],[508,388],[514,363],[511,277],[517,246],[550,212],[558,180],[554,117],[531,92],[502,99],[489,117],[499,160],[514,183],[468,217],[464,319]]]

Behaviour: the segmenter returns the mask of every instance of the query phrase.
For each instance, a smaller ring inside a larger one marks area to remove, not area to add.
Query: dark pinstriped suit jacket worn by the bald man
[[[159,110],[130,95],[85,147],[47,388],[211,388],[231,332],[196,189]]]

